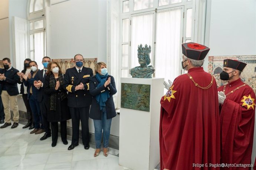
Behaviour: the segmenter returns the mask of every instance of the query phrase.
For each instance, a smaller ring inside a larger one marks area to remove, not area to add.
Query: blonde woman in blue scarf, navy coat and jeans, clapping
[[[116,116],[113,95],[116,93],[114,77],[108,75],[106,64],[98,62],[95,65],[96,75],[89,79],[92,95],[92,105],[89,117],[93,119],[95,129],[96,150],[94,157],[101,152],[101,136],[103,129],[103,154],[108,156],[108,139],[111,120]]]

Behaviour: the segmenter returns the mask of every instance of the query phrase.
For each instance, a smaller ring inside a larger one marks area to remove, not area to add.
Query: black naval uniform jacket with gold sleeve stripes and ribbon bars
[[[76,67],[66,70],[64,77],[64,86],[68,91],[68,106],[72,108],[82,108],[90,106],[92,103],[92,96],[89,92],[89,78],[93,76],[91,68],[82,67],[79,74]],[[83,90],[75,91],[75,87],[82,83]]]

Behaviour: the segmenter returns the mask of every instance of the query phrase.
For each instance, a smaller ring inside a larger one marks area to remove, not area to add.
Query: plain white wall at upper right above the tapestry
[[[255,9],[255,0],[207,0],[205,45],[211,49],[210,56],[256,55]],[[207,71],[208,58],[205,60]],[[256,126],[252,163],[255,156]]]

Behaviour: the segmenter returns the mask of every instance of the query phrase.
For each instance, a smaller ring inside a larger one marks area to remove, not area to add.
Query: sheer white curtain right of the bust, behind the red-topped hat
[[[157,11],[155,77],[173,81],[181,70],[182,9]]]

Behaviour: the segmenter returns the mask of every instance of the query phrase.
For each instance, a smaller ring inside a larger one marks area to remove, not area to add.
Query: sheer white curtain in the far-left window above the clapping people
[[[35,33],[35,61],[38,68],[43,69],[42,58],[44,57],[44,32]]]

